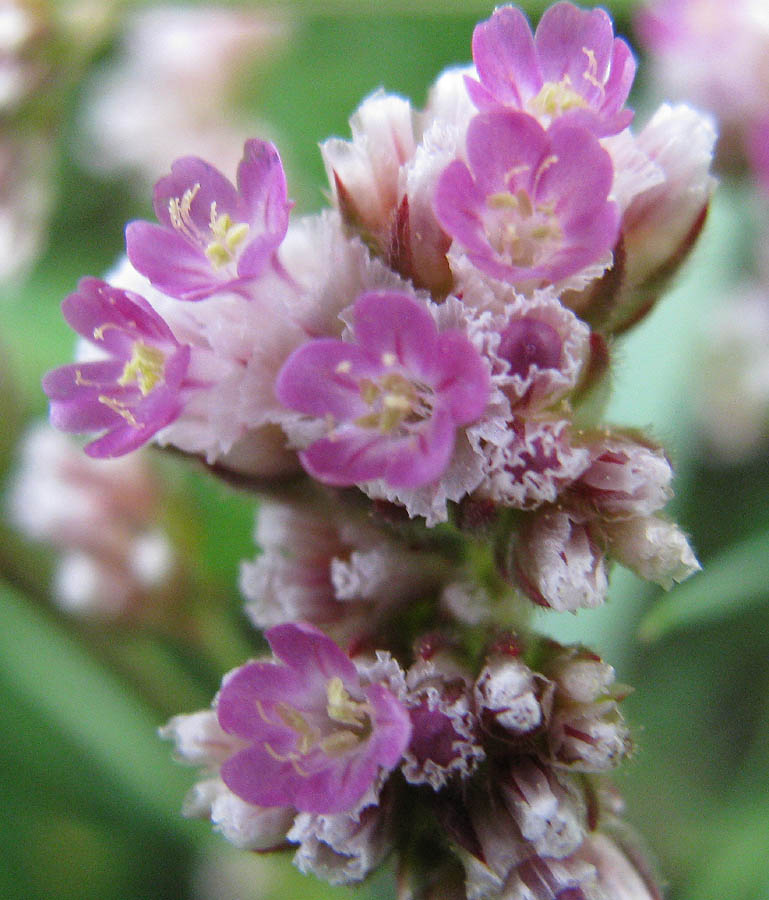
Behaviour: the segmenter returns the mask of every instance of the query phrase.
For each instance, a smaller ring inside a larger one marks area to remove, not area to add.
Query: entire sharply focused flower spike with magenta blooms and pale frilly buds
[[[154,440],[269,498],[241,588],[272,657],[164,730],[208,772],[190,814],[333,883],[395,850],[403,897],[648,900],[598,777],[626,689],[527,616],[599,605],[612,560],[698,568],[664,451],[600,410],[614,337],[702,227],[715,135],[685,106],[631,130],[603,10],[532,33],[502,7],[472,53],[424,110],[377,92],[322,145],[319,215],[291,217],[270,143],[235,183],[174,163],[158,222],[65,300],[80,361],[44,386],[91,456]]]

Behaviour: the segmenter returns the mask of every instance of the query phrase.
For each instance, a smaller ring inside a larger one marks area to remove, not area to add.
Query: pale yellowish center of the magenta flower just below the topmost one
[[[486,205],[486,237],[511,265],[531,268],[560,244],[563,232],[552,201],[533,203],[523,188],[491,194]]]

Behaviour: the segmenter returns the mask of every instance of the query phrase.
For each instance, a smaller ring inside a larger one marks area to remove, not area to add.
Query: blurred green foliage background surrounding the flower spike
[[[544,7],[524,5],[533,16]],[[65,6],[38,4],[53,18]],[[632,40],[634,4],[606,6]],[[41,255],[0,288],[4,479],[25,424],[45,414],[41,375],[71,356],[61,299],[80,276],[115,262],[127,220],[151,216],[146,190],[85,171],[73,149],[82,139],[85,79],[119,54],[123,17],[138,8],[116,5],[90,36],[86,29],[60,39],[46,51],[35,95],[3,122],[6,131],[42,129],[54,151]],[[269,123],[297,210],[307,212],[324,202],[317,142],[347,136],[349,115],[380,85],[420,106],[443,68],[469,60],[473,26],[491,7],[335,0],[279,10],[288,16],[288,37],[248,67],[233,103],[241,116]],[[659,98],[644,94],[643,60],[640,71],[635,105],[643,122]],[[543,630],[594,646],[635,688],[625,709],[638,749],[617,783],[670,900],[769,898],[766,448],[750,461],[720,465],[704,449],[693,414],[698,325],[744,270],[761,219],[746,188],[725,179],[685,272],[615,353],[609,418],[648,428],[672,452],[673,512],[704,572],[661,596],[617,569],[606,607],[565,622],[545,613],[537,620]],[[180,462],[162,465],[180,498],[176,521],[187,523],[179,537],[193,561],[191,615],[202,656],[150,631],[73,623],[48,598],[51,554],[7,522],[0,526],[0,897],[351,896],[303,878],[290,856],[239,853],[207,823],[179,814],[194,773],[173,763],[156,729],[176,712],[206,706],[221,674],[259,646],[236,586],[238,561],[254,553],[254,502]],[[208,604],[215,618],[207,617]],[[385,871],[355,896],[389,897],[390,879]]]

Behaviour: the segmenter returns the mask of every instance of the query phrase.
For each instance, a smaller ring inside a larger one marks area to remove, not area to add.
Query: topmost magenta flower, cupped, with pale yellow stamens
[[[544,124],[567,116],[598,137],[633,119],[624,104],[635,60],[602,9],[556,3],[532,36],[526,16],[503,6],[476,27],[473,60],[480,82],[467,78],[467,88],[479,109],[513,107]]]

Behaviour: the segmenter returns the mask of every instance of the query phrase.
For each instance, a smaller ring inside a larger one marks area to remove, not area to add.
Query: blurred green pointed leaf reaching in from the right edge
[[[769,589],[769,532],[732,545],[704,571],[679,585],[644,617],[642,640],[676,628],[734,615],[766,598]]]

